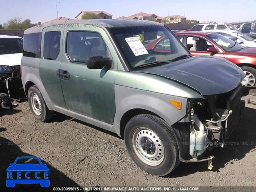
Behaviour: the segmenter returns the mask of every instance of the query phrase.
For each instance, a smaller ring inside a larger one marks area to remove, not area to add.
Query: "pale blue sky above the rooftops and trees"
[[[58,15],[75,18],[81,10],[104,10],[113,15],[113,19],[120,16],[130,16],[138,12],[154,13],[157,16],[182,15],[200,22],[236,22],[256,20],[256,1],[246,0],[59,0]],[[58,0],[0,0],[0,24],[14,18],[30,19],[32,23],[46,22],[57,18],[56,2]]]

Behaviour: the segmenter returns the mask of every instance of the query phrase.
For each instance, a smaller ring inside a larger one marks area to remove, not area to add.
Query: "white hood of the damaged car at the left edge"
[[[20,65],[22,53],[0,55],[0,65],[16,66]]]

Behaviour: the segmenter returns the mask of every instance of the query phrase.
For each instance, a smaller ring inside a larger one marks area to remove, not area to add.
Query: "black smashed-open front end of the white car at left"
[[[0,65],[0,93],[5,93],[13,100],[26,98],[22,87],[20,65]]]

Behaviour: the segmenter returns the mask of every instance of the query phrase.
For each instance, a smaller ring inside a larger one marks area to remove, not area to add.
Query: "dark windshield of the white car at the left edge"
[[[22,38],[0,38],[0,55],[22,53]]]

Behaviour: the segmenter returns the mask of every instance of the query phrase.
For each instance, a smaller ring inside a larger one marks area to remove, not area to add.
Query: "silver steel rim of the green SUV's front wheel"
[[[147,165],[157,166],[164,160],[162,141],[156,133],[148,128],[140,127],[134,131],[132,148],[136,156]]]

